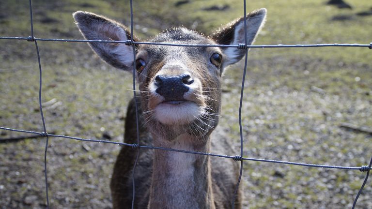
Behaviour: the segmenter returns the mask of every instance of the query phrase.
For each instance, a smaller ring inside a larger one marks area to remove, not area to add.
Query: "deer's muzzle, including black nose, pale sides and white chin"
[[[205,113],[200,81],[194,77],[189,82],[190,79],[186,74],[155,77],[149,85],[148,107],[152,119],[166,125],[183,125]]]

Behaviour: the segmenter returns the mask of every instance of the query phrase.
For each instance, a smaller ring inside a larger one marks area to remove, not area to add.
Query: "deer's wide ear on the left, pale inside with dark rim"
[[[73,14],[80,32],[87,40],[126,41],[129,30],[122,24],[106,17],[78,11]],[[136,40],[134,40],[136,41]],[[110,65],[130,70],[133,65],[132,46],[117,43],[89,43],[93,51]]]

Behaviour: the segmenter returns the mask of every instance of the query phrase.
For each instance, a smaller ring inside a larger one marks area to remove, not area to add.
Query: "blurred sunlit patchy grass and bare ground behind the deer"
[[[34,36],[82,39],[72,13],[90,11],[130,25],[129,0],[33,0]],[[208,35],[243,15],[241,0],[134,0],[134,31],[145,40],[170,27]],[[265,7],[255,44],[372,42],[371,0],[247,0]],[[1,0],[0,36],[30,36],[29,2]],[[123,141],[132,75],[110,67],[86,43],[38,41],[47,132]],[[242,110],[245,157],[361,166],[372,150],[372,50],[251,49]],[[0,126],[42,132],[34,43],[0,40]],[[238,144],[244,62],[224,75],[220,129]],[[349,127],[349,128],[347,128]],[[0,130],[0,208],[44,209],[44,138]],[[109,209],[120,146],[49,139],[51,208]],[[219,153],[237,155],[235,153]],[[244,162],[244,208],[351,208],[364,172]],[[357,208],[372,208],[371,181]]]

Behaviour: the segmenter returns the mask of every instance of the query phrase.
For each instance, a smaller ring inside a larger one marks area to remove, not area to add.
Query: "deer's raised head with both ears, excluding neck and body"
[[[187,45],[251,45],[262,28],[266,9],[216,30],[210,36],[186,28],[171,28],[148,42]],[[126,41],[127,27],[89,12],[74,13],[81,33],[88,40]],[[139,41],[133,37],[134,41]],[[165,140],[180,134],[203,138],[217,126],[220,113],[221,76],[225,68],[243,58],[245,50],[228,47],[186,47],[89,43],[93,51],[110,65],[125,71],[135,63],[143,116],[150,132]]]

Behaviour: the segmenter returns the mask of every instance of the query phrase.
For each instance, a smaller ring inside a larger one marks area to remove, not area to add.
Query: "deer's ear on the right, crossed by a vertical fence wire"
[[[247,15],[247,45],[254,42],[258,32],[263,27],[266,18],[266,9],[262,8]],[[218,29],[209,36],[220,45],[239,45],[245,44],[244,17],[235,20],[225,27]],[[222,48],[225,59],[222,67],[233,64],[241,60],[245,55],[245,50],[237,48]]]

